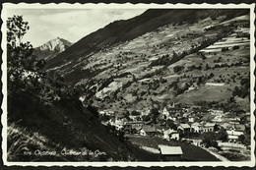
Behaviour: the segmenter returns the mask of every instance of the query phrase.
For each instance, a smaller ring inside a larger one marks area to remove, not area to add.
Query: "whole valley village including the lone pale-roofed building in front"
[[[103,125],[118,135],[123,134],[125,139],[148,138],[150,141],[158,138],[165,142],[185,142],[212,154],[220,150],[246,152],[250,149],[250,113],[246,112],[230,113],[200,106],[185,108],[172,103],[162,110],[154,108],[131,113],[101,110],[98,113]],[[158,152],[154,148],[141,147]],[[180,160],[183,154],[181,147],[169,144],[159,143],[159,150],[161,155],[171,155],[169,160]]]

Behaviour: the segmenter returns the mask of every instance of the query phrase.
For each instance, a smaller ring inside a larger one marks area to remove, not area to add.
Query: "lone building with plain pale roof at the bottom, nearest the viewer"
[[[180,146],[159,145],[161,161],[180,161],[183,151]]]

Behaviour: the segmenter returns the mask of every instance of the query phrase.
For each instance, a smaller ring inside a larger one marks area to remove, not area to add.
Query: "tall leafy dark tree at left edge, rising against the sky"
[[[22,42],[23,36],[30,27],[22,16],[7,20],[7,81],[10,97],[21,91],[35,92],[44,73],[44,60],[37,60],[32,54],[32,44]]]

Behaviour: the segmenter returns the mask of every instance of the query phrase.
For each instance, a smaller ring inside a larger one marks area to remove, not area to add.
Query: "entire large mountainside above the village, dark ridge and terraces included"
[[[248,14],[149,10],[82,38],[46,69],[64,75],[86,104],[100,109],[147,110],[176,102],[248,111]]]

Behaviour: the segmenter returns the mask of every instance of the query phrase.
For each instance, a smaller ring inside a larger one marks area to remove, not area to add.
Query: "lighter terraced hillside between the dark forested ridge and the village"
[[[84,102],[101,109],[145,111],[171,102],[225,103],[240,80],[250,74],[248,18],[223,22],[221,16],[165,25],[101,48],[61,69],[80,86]],[[249,109],[248,97],[235,99]]]

